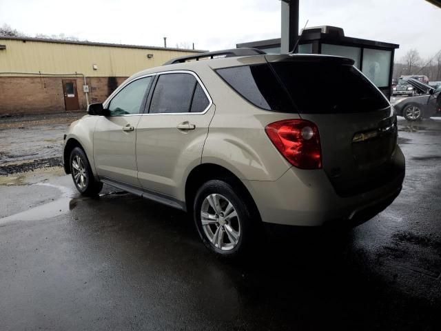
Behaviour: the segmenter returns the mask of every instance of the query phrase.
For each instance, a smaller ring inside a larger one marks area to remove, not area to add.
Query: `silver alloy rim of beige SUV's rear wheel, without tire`
[[[232,250],[240,239],[236,209],[221,194],[209,194],[201,206],[202,228],[207,239],[220,250]]]

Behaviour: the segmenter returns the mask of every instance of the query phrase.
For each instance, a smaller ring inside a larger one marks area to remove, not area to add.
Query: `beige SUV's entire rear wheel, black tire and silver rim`
[[[237,185],[211,180],[201,186],[194,200],[199,236],[209,250],[223,257],[245,253],[258,225],[251,206],[245,203],[247,199],[241,199],[239,192]]]

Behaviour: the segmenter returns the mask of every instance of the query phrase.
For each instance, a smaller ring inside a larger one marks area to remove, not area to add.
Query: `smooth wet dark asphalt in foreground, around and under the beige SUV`
[[[189,217],[68,176],[0,186],[1,330],[439,330],[441,121],[400,120],[400,196],[223,261]]]

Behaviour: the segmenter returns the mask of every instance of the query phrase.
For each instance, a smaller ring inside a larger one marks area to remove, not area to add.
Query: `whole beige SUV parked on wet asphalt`
[[[72,123],[63,157],[81,194],[107,183],[186,210],[229,257],[264,223],[366,221],[404,179],[393,108],[352,60],[252,49],[134,74]]]

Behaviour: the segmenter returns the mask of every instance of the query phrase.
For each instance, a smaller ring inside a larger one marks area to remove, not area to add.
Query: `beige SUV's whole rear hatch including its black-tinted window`
[[[396,117],[373,83],[340,57],[267,55],[302,119],[316,123],[322,167],[340,196],[400,176],[393,163]]]

